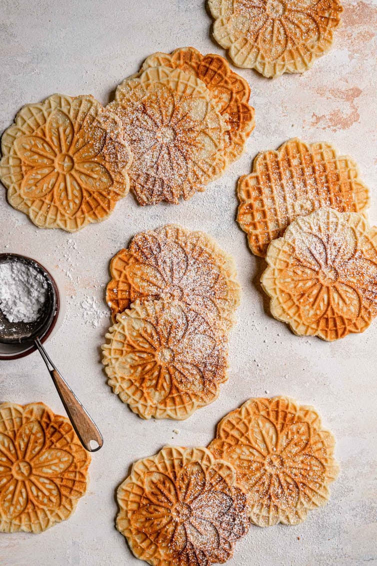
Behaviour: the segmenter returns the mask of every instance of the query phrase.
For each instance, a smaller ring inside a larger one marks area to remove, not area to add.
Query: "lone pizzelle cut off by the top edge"
[[[239,67],[304,72],[331,48],[339,0],[209,0],[213,35]]]

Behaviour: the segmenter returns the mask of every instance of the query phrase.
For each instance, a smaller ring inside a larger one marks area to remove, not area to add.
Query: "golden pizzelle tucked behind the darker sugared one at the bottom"
[[[296,525],[327,503],[338,468],[318,413],[286,397],[250,399],[218,425],[209,449],[233,464],[255,525]]]

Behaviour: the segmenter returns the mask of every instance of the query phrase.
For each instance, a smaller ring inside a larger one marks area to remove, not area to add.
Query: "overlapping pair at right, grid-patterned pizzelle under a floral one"
[[[323,340],[364,331],[377,315],[377,229],[352,158],[291,139],[259,153],[237,192],[237,220],[268,264],[272,315]]]

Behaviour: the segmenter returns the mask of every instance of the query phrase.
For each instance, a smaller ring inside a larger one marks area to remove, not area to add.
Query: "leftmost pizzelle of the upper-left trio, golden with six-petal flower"
[[[131,158],[119,119],[93,96],[52,95],[24,106],[4,132],[0,179],[34,224],[72,232],[127,195]]]

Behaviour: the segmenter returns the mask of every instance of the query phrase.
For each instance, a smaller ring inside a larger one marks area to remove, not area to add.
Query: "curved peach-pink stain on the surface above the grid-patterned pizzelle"
[[[358,87],[347,88],[342,90],[340,88],[318,89],[317,93],[320,96],[324,96],[328,99],[339,100],[341,103],[346,103],[349,106],[349,112],[344,111],[344,104],[341,104],[341,108],[332,110],[328,114],[312,114],[311,115],[311,126],[320,127],[322,130],[330,129],[333,132],[338,130],[347,130],[354,123],[358,122],[360,119],[359,109],[356,105],[355,100],[361,95],[362,90]]]

